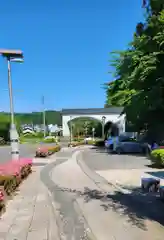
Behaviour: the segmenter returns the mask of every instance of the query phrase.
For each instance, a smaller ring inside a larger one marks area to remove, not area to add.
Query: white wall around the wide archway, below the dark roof
[[[119,114],[103,114],[103,115],[98,115],[98,114],[91,114],[91,115],[71,115],[72,118],[70,118],[69,115],[63,115],[62,116],[62,128],[63,128],[63,136],[68,137],[70,135],[69,132],[69,127],[68,127],[68,122],[72,119],[75,118],[80,118],[80,117],[89,117],[93,119],[97,119],[99,121],[102,121],[102,117],[105,116],[105,122],[113,122],[113,123],[119,123],[119,128],[122,129],[122,131],[125,131],[125,116],[121,116]]]

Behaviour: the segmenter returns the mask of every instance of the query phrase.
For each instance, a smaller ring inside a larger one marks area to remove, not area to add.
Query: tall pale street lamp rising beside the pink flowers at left
[[[11,62],[23,62],[23,52],[21,50],[0,49],[0,54],[7,59],[8,65],[8,89],[10,98],[10,142],[12,160],[19,160],[19,136],[14,121],[13,90],[11,80]]]

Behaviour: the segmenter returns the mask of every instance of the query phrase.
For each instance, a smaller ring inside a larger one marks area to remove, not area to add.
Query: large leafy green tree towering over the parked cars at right
[[[164,135],[164,1],[145,0],[145,20],[125,51],[112,52],[113,81],[105,84],[106,107],[123,106],[128,126]]]

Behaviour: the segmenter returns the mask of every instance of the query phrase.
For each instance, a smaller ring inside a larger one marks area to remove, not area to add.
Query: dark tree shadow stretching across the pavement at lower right
[[[124,186],[125,189],[128,187]],[[144,220],[155,221],[164,226],[164,204],[159,200],[157,195],[153,193],[143,193],[139,188],[129,187],[131,193],[122,193],[115,191],[114,194],[105,193],[95,189],[84,188],[84,191],[76,189],[58,188],[58,191],[76,194],[83,197],[85,202],[91,200],[101,201],[100,206],[104,211],[113,210],[118,214],[128,217],[128,221],[132,224],[147,230]]]

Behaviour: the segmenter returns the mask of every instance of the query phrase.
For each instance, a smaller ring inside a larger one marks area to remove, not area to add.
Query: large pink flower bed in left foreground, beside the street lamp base
[[[32,172],[32,159],[19,159],[0,164],[0,212],[19,184]]]

